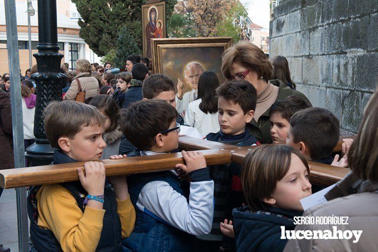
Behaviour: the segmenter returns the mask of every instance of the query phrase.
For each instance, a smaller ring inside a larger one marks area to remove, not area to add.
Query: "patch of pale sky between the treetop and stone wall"
[[[269,29],[269,0],[240,0],[252,22]]]

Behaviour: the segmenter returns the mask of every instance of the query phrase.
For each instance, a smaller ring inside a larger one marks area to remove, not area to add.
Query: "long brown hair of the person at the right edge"
[[[349,150],[348,164],[362,180],[378,182],[378,89],[367,103],[361,125]]]

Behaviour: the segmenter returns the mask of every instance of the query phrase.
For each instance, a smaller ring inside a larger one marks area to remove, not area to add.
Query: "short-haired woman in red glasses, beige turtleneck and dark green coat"
[[[269,108],[279,100],[288,96],[307,97],[290,89],[281,80],[272,80],[273,67],[269,58],[256,45],[242,41],[224,51],[222,56],[222,74],[229,80],[249,81],[257,91],[255,115],[247,128],[259,141],[271,143]]]

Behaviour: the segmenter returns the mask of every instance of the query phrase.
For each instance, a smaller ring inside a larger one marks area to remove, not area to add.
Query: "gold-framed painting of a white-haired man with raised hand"
[[[198,85],[198,77],[191,79],[191,71],[213,71],[222,83],[222,53],[232,45],[232,37],[152,39],[153,71],[169,76],[176,92],[179,79],[184,93],[192,90],[191,82]]]

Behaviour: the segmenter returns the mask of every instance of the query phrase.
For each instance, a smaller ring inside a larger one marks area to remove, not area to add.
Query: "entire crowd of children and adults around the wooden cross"
[[[63,101],[44,111],[46,137],[54,148],[53,164],[85,164],[77,182],[30,188],[33,251],[360,250],[365,244],[373,250],[378,245],[370,234],[359,243],[281,237],[281,226],[330,229],[295,226],[293,219],[302,215],[353,216],[348,228],[375,230],[369,222],[378,215],[364,206],[374,205],[377,195],[378,91],[355,140],[344,139],[342,153],[333,156],[339,120],[295,90],[282,56],[269,59],[254,44],[239,42],[222,55],[223,83],[198,62],[186,65],[184,81],[191,87],[186,93],[183,80],[175,85],[165,74],[150,75],[148,64],[130,55],[121,72],[111,63],[86,59],[77,61],[74,72],[62,65]],[[34,142],[31,72],[21,83],[25,147]],[[2,80],[0,161],[9,169],[12,85],[9,75]],[[183,127],[195,128],[208,141],[261,146],[242,165],[207,165],[200,152],[181,150],[185,164],[171,171],[106,178],[100,159],[179,152]],[[351,172],[326,195],[327,203],[304,212],[299,200],[323,189],[311,185],[308,160]]]

